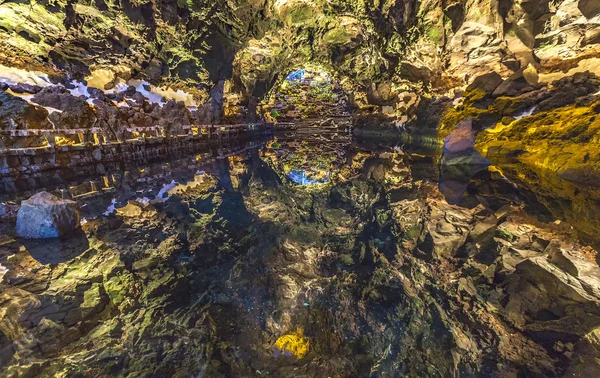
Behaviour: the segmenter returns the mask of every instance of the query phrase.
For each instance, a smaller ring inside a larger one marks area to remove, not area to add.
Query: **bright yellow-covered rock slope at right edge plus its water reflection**
[[[600,101],[539,112],[480,132],[475,148],[581,237],[600,227]]]

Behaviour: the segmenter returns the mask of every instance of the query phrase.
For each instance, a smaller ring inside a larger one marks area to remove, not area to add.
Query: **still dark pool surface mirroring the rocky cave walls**
[[[576,210],[559,214],[543,182],[505,167],[438,156],[281,135],[111,172],[110,190],[80,197],[80,234],[0,239],[0,366],[223,378],[590,366],[600,268],[555,222]]]

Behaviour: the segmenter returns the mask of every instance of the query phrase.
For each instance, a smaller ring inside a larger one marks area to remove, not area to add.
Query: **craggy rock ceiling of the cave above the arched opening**
[[[600,2],[4,1],[0,41],[7,66],[79,79],[127,67],[204,99],[224,80],[242,101],[259,99],[312,65],[356,105],[385,105],[402,91],[446,93],[490,71],[507,77],[531,65],[542,80],[598,71]]]

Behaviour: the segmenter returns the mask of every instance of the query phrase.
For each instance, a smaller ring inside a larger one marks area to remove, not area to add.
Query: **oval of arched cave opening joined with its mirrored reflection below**
[[[340,82],[321,67],[293,69],[266,96],[263,114],[281,131],[269,155],[285,179],[302,187],[328,183],[351,140]]]

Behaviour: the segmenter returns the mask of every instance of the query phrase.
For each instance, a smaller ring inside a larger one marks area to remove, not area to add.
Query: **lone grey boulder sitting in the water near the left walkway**
[[[17,235],[26,239],[56,238],[79,227],[77,202],[40,192],[21,203]]]

